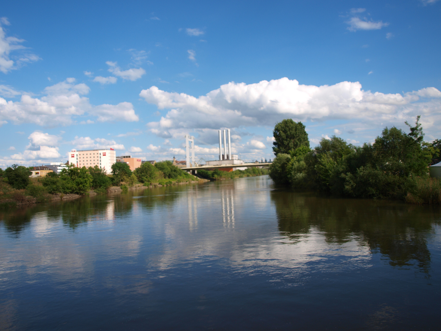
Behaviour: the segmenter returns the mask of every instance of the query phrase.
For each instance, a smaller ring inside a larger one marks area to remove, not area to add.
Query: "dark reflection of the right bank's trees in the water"
[[[415,266],[429,276],[427,237],[440,223],[440,208],[367,199],[334,199],[289,190],[274,190],[281,234],[298,242],[312,228],[329,243],[356,240],[387,256],[396,267]]]

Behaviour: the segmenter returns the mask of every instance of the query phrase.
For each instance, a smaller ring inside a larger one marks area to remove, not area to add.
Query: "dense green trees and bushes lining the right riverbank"
[[[440,159],[441,140],[424,142],[420,117],[410,132],[384,128],[372,144],[358,147],[332,136],[314,149],[301,122],[291,119],[274,128],[276,154],[269,176],[278,184],[334,196],[401,199],[441,203],[441,182],[428,165]]]

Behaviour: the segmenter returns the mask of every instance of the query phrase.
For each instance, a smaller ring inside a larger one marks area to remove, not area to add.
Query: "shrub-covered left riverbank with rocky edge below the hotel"
[[[77,168],[74,165],[69,165],[59,175],[49,173],[45,177],[30,178],[30,174],[30,169],[19,165],[4,171],[0,169],[0,207],[206,181],[177,168],[170,161],[155,165],[144,162],[133,172],[127,163],[117,162],[112,165],[111,175],[97,166]]]

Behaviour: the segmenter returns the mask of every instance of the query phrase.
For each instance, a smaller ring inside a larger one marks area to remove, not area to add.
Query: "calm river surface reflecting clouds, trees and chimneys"
[[[1,330],[440,330],[441,209],[267,176],[0,212]]]

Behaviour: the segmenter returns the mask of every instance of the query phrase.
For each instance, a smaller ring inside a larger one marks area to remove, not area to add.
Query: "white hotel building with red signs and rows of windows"
[[[97,165],[105,169],[107,174],[112,172],[112,164],[116,162],[116,153],[110,150],[71,150],[69,152],[69,164],[77,167],[94,167]]]

